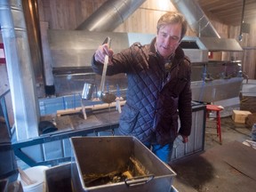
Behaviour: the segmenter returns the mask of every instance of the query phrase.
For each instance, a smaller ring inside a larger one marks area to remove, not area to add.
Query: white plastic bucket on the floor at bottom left
[[[36,182],[27,185],[23,180],[20,180],[20,174],[18,180],[20,180],[24,192],[45,192],[45,170],[49,169],[47,166],[35,166],[29,167],[24,170],[28,175],[30,180],[35,180]]]

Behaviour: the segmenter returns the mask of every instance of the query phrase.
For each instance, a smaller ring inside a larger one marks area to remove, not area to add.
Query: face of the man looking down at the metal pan
[[[157,51],[167,59],[175,52],[176,48],[180,44],[181,37],[181,24],[169,24],[159,28],[156,36],[156,49]]]

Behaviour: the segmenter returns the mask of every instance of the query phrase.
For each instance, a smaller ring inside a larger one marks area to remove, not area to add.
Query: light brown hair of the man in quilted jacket
[[[160,28],[168,24],[181,24],[181,36],[180,40],[185,36],[188,28],[188,22],[185,20],[184,16],[179,12],[166,12],[161,18],[157,21],[157,33]]]

